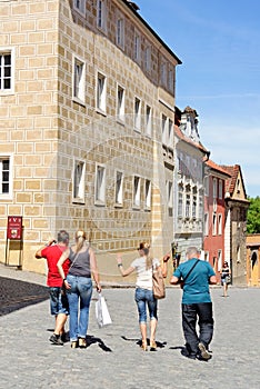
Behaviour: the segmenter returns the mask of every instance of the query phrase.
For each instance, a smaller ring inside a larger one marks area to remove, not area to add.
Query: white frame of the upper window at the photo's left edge
[[[4,64],[4,56],[10,56],[10,66]],[[0,82],[0,94],[13,94],[14,93],[14,48],[0,47],[0,68],[1,68],[1,82]],[[4,69],[10,68],[10,74],[4,74]],[[10,88],[4,88],[4,80],[10,79]]]

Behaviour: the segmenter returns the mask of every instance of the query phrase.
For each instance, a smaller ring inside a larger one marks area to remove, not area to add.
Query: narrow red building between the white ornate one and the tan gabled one
[[[213,267],[220,280],[224,261],[224,182],[231,176],[211,160],[206,162],[204,174],[204,260]]]

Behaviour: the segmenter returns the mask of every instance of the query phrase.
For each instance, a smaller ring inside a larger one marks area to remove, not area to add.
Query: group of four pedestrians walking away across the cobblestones
[[[61,230],[57,242],[51,240],[47,247],[36,252],[36,257],[46,258],[48,265],[50,312],[56,318],[54,332],[50,337],[50,342],[57,346],[63,345],[64,325],[69,316],[71,348],[87,348],[92,279],[98,292],[101,292],[101,286],[96,255],[87,242],[86,232],[78,230],[74,239],[74,245],[69,247],[69,235]],[[138,257],[129,268],[124,269],[120,253],[117,256],[117,263],[122,277],[134,271],[137,273],[134,300],[139,313],[141,350],[147,351],[150,348],[151,351],[156,351],[158,299],[153,296],[152,275],[154,270],[160,269],[162,276],[167,277],[170,253],[164,255],[162,260],[152,258],[148,242],[140,242],[137,250]],[[187,261],[176,269],[170,283],[180,283],[183,289],[181,303],[186,340],[183,356],[208,361],[212,357],[209,345],[212,340],[214,323],[209,285],[217,283],[217,278],[212,267],[199,258],[200,251],[196,247],[190,247],[187,250]]]

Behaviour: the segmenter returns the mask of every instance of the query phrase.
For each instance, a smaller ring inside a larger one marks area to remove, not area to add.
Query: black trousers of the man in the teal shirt
[[[197,322],[199,335],[197,333]],[[199,342],[202,342],[208,349],[213,337],[213,323],[212,302],[182,305],[182,329],[190,356],[198,353]]]

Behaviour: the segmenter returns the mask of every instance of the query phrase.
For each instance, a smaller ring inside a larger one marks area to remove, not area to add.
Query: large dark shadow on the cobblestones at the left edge
[[[0,316],[47,299],[49,299],[48,287],[0,277]]]

